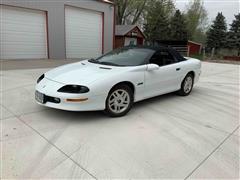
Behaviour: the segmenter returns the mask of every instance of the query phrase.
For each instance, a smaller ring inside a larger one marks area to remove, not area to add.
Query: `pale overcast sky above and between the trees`
[[[176,8],[184,11],[190,0],[175,0]],[[211,23],[218,12],[222,12],[227,24],[231,24],[234,14],[240,12],[240,0],[203,0],[204,7],[208,12],[208,21]]]

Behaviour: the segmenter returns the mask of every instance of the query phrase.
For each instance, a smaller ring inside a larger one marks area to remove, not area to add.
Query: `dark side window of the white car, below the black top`
[[[157,51],[150,59],[150,63],[159,66],[169,65],[175,63],[175,58],[168,50]]]

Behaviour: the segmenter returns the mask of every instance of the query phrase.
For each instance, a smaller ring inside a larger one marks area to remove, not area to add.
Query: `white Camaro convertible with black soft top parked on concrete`
[[[137,101],[175,91],[189,95],[200,73],[199,60],[172,48],[124,47],[46,72],[37,80],[35,98],[51,108],[119,117]]]

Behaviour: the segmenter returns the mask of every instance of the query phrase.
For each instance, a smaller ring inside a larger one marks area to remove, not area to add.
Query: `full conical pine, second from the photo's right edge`
[[[226,46],[227,24],[222,13],[218,13],[207,32],[207,47],[220,49]]]

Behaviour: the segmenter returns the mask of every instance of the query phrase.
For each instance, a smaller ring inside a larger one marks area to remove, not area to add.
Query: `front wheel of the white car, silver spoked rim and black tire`
[[[133,106],[133,91],[125,84],[120,84],[108,94],[104,112],[110,117],[121,117],[126,115]]]

